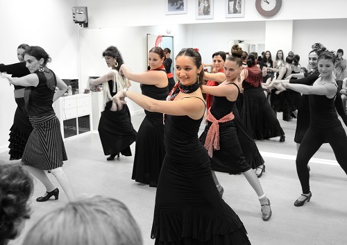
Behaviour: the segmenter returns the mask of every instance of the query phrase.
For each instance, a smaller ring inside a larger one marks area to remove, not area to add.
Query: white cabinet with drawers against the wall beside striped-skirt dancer
[[[77,137],[82,133],[92,132],[91,94],[62,96],[53,103],[53,109],[60,121],[63,138]]]

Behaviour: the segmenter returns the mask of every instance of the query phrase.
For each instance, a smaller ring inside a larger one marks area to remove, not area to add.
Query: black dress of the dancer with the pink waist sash
[[[232,83],[232,85],[235,85],[235,83]],[[237,85],[235,86],[237,87]],[[211,167],[214,171],[239,174],[251,168],[256,169],[264,164],[264,159],[260,155],[257,145],[242,124],[236,102],[228,101],[226,97],[213,97],[210,112],[215,119],[219,120],[230,112],[235,117],[232,121],[219,123],[220,150],[214,151],[211,159]],[[200,137],[202,144],[205,144],[211,125],[212,122],[208,121],[208,125]]]

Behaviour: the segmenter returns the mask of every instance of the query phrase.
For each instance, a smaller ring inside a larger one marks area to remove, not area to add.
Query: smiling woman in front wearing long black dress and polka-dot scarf
[[[208,152],[198,140],[205,112],[198,51],[183,49],[178,53],[176,76],[179,82],[168,101],[128,90],[114,97],[119,105],[128,96],[146,110],[165,113],[166,155],[155,196],[151,237],[155,244],[250,244],[242,221],[221,198]]]

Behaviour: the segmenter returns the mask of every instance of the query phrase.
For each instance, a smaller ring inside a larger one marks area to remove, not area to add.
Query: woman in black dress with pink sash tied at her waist
[[[232,46],[231,53],[232,55],[224,64],[226,81],[214,87],[203,86],[203,92],[213,95],[213,102],[208,112],[208,125],[205,127],[202,143],[211,158],[214,180],[217,180],[214,171],[244,174],[262,205],[262,219],[268,221],[271,217],[270,201],[266,198],[255,172],[246,161],[243,150],[249,151],[250,149],[242,149],[239,132],[234,121],[233,108],[236,108],[234,105],[239,97],[237,80],[242,71],[243,51],[235,44]]]

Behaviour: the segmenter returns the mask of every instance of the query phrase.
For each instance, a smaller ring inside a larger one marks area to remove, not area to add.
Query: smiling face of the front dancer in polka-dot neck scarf
[[[203,67],[196,67],[194,58],[189,56],[176,57],[176,76],[183,85],[192,85],[196,83],[198,74]]]

